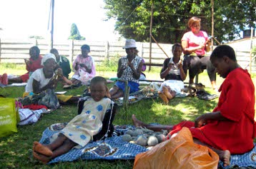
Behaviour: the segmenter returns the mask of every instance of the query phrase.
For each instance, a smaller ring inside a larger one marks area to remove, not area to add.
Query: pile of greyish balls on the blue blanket
[[[143,129],[127,130],[122,135],[122,140],[142,146],[154,146],[163,142],[167,134],[167,130],[163,130],[162,132]]]

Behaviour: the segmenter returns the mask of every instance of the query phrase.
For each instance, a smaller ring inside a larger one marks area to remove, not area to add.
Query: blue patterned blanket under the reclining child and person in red
[[[44,130],[40,143],[49,144],[51,136],[54,133],[59,133],[59,130],[63,128],[67,123],[54,124],[56,127],[52,127]],[[62,125],[62,127],[61,127]],[[116,128],[114,133],[124,133],[126,130],[134,130],[134,126],[122,126]],[[74,161],[78,159],[82,160],[134,160],[135,156],[139,153],[143,153],[149,150],[141,145],[128,143],[122,140],[121,136],[114,135],[112,138],[106,138],[105,140],[99,140],[96,142],[90,142],[83,148],[72,148],[68,153],[60,155],[57,158],[52,159],[49,163],[58,163],[64,161]],[[222,167],[222,162],[219,163],[219,168]],[[255,148],[250,152],[242,155],[231,155],[230,165],[225,168],[238,167],[252,167],[256,168],[256,143]]]

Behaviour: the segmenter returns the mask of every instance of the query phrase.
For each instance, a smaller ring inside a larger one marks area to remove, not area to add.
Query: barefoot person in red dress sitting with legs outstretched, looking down
[[[134,115],[132,121],[135,126],[169,130],[170,135],[187,127],[195,143],[214,150],[227,166],[230,165],[230,154],[247,153],[254,147],[255,87],[247,70],[237,64],[235,51],[230,46],[217,46],[212,51],[210,61],[217,73],[225,78],[220,86],[219,102],[212,113],[199,116],[195,123],[184,121],[175,126],[152,126],[137,120]]]

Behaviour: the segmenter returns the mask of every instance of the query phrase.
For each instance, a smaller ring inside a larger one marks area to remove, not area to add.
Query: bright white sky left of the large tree
[[[27,39],[43,36],[49,39],[47,30],[51,0],[1,0],[0,37]],[[55,0],[54,39],[67,40],[72,23],[88,41],[115,41],[115,21],[106,19],[103,0]]]

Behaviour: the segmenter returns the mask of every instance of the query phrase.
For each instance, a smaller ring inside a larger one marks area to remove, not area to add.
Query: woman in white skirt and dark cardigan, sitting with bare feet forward
[[[172,58],[166,58],[162,66],[160,77],[164,78],[159,88],[158,95],[164,103],[168,103],[169,100],[174,98],[177,93],[180,93],[184,88],[183,81],[187,77],[188,64],[186,60],[182,60],[182,45],[175,43],[172,46]]]

